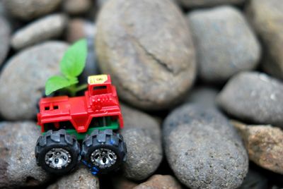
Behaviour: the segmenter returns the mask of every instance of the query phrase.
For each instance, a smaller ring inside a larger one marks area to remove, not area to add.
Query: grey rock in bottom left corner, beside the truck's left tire
[[[33,122],[0,123],[0,188],[32,187],[50,179],[35,162],[39,136]]]

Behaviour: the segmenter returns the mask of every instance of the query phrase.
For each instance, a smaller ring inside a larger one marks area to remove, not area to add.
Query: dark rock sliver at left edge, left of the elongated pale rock
[[[10,47],[10,35],[11,35],[11,29],[8,25],[6,19],[2,16],[0,16],[0,65],[3,63],[4,59],[6,58],[6,55],[8,53],[8,49]]]

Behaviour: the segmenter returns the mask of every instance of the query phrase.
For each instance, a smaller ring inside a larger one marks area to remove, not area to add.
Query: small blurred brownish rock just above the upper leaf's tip
[[[96,34],[96,25],[87,20],[74,18],[69,21],[67,28],[67,42],[73,43],[83,37],[93,38]]]

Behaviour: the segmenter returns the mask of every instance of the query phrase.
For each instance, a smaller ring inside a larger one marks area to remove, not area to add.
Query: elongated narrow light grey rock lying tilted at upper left
[[[53,39],[62,35],[67,25],[67,17],[63,14],[53,14],[35,20],[33,23],[18,30],[11,39],[14,49],[22,49],[33,44]]]

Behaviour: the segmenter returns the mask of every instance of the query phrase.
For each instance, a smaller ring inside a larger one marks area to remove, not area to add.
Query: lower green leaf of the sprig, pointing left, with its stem
[[[52,76],[47,80],[45,84],[45,94],[49,95],[54,91],[57,91],[64,87],[69,87],[70,85],[74,85],[78,82],[79,81],[76,78],[72,80],[68,80],[67,78],[64,78],[62,76],[58,76],[58,75]]]

